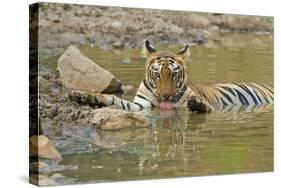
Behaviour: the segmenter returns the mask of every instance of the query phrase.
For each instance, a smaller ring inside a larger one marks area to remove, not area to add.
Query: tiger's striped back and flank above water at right
[[[216,108],[227,105],[259,106],[274,102],[273,88],[254,82],[221,83],[212,86],[190,83],[190,87]]]

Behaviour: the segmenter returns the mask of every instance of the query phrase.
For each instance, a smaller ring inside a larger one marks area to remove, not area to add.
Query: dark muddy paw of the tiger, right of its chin
[[[214,110],[211,105],[198,96],[191,96],[187,101],[187,107],[190,111],[198,113],[207,113]]]

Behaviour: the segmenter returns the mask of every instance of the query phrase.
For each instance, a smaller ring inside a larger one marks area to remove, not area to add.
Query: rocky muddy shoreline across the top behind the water
[[[39,4],[39,59],[73,44],[104,50],[155,43],[219,42],[225,32],[272,34],[273,18],[73,4]]]

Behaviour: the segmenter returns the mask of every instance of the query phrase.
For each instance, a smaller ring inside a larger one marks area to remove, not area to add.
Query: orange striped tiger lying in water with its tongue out
[[[146,72],[133,102],[110,94],[72,91],[71,96],[86,98],[90,103],[114,106],[127,111],[184,107],[197,113],[208,113],[227,106],[260,106],[273,104],[273,87],[255,82],[200,85],[188,74],[190,44],[179,52],[157,51],[149,40],[144,41],[142,54]]]

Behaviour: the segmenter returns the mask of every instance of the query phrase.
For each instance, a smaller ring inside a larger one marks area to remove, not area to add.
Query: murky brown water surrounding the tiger
[[[180,48],[169,46],[168,50]],[[121,96],[133,99],[144,76],[140,50],[109,52],[89,46],[81,50],[124,84],[133,85],[133,90]],[[220,43],[193,47],[191,53],[188,71],[199,83],[255,81],[273,85],[270,35],[225,35]],[[130,61],[124,62],[124,58]],[[56,59],[43,63],[52,68]],[[60,144],[64,160],[59,165],[69,168],[53,168],[49,173],[63,174],[59,183],[66,184],[272,171],[273,112],[273,106],[207,115],[156,109],[150,113],[150,128],[67,130],[89,136],[68,138],[67,144]],[[61,137],[56,142],[65,140]]]

